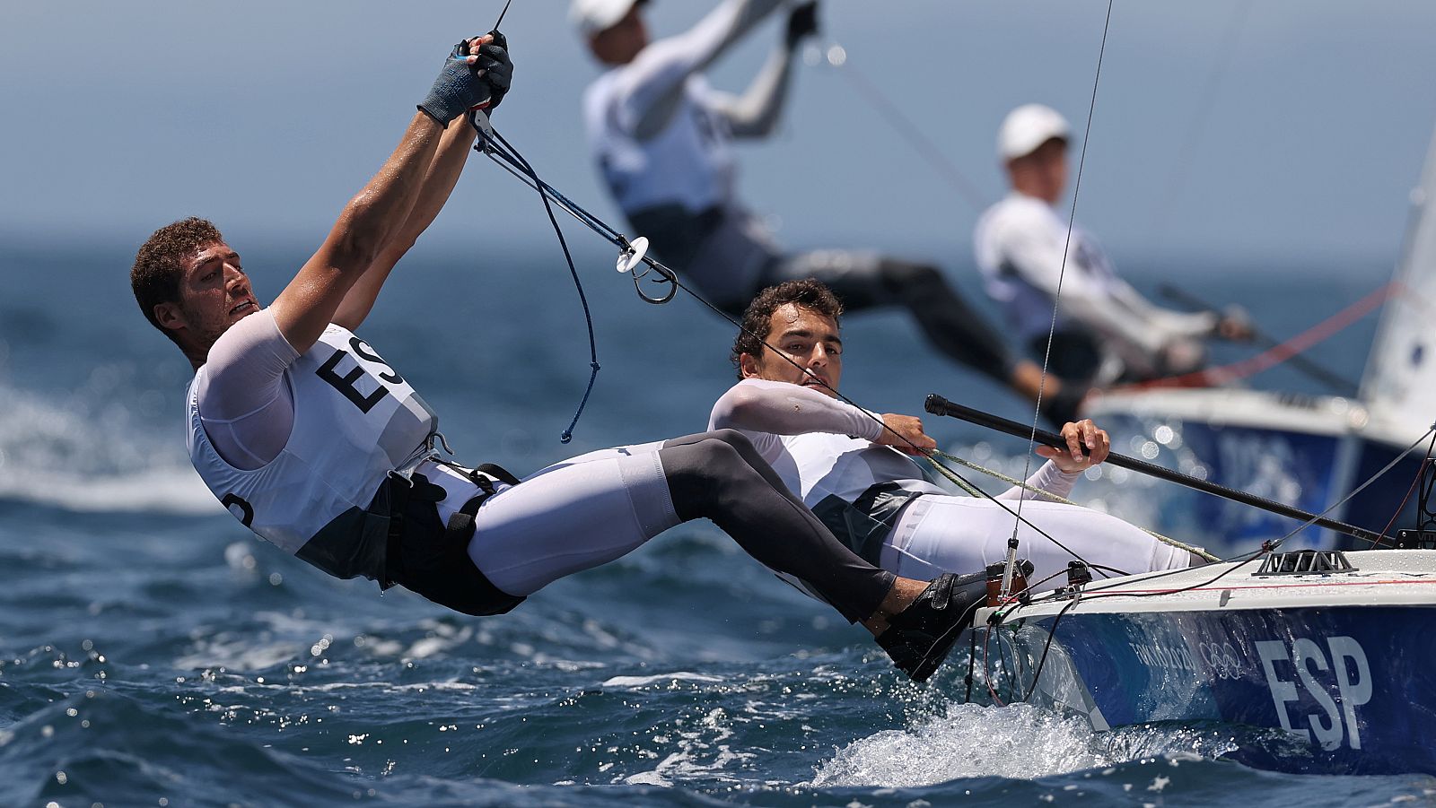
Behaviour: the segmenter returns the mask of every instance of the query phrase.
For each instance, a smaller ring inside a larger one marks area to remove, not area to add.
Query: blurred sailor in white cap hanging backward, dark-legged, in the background
[[[584,93],[583,119],[613,199],[656,257],[732,314],[765,286],[817,277],[849,310],[906,309],[948,359],[1037,399],[1041,367],[1014,356],[942,270],[869,250],[784,253],[738,199],[731,142],[777,126],[797,46],[817,30],[817,3],[788,7],[781,37],[741,96],[715,90],[704,70],[781,7],[724,0],[688,32],[651,42],[643,0],[573,1],[570,16],[606,69]],[[1048,375],[1048,418],[1061,423],[1080,399],[1080,386]]]

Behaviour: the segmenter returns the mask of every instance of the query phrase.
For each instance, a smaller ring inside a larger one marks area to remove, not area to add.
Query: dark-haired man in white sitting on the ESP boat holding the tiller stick
[[[839,400],[840,314],[837,299],[816,280],[763,290],[744,313],[744,330],[732,347],[740,382],[714,405],[708,428],[745,435],[834,535],[885,570],[931,577],[1002,561],[1015,524],[1012,512],[991,499],[952,495],[925,478],[910,455],[933,449],[936,442],[923,432],[920,419],[869,413]],[[1048,459],[1027,482],[1066,498],[1110,446],[1107,433],[1091,421],[1067,423],[1061,435],[1067,448],[1038,448]],[[1014,485],[998,499],[1015,505],[1020,497],[1034,495]],[[1178,568],[1193,560],[1088,508],[1034,499],[1022,505],[1022,517],[1109,573]],[[1020,554],[1035,567],[1032,581],[1061,573],[1073,560],[1073,553],[1028,524],[1018,530],[1018,540]],[[1066,584],[1064,577],[1045,588],[1060,584]]]

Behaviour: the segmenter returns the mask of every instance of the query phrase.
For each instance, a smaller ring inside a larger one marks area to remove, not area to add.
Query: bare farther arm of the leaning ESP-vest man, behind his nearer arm
[[[404,220],[404,225],[379,250],[378,258],[345,294],[335,311],[333,323],[355,330],[369,316],[383,281],[389,277],[389,270],[414,247],[419,234],[434,222],[444,204],[448,202],[449,194],[464,171],[464,164],[468,161],[474,136],[474,128],[464,118],[449,122],[448,129],[439,138],[438,151],[429,162],[428,172],[424,175],[414,208]]]

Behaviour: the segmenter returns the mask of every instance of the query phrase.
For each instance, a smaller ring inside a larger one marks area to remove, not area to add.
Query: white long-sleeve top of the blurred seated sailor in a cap
[[[1117,276],[1090,232],[1074,224],[1068,245],[1067,221],[1045,201],[1015,191],[978,220],[974,250],[988,296],[1024,342],[1047,334],[1058,281],[1058,330],[1077,324],[1094,332],[1103,350],[1136,375],[1152,373],[1170,342],[1209,336],[1218,323],[1209,311],[1153,304]]]

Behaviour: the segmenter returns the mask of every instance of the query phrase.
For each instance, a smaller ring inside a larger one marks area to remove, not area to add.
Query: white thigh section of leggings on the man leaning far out
[[[500,485],[474,517],[468,557],[500,590],[528,596],[636,550],[678,524],[661,446],[599,449],[540,469],[523,485]],[[421,471],[448,491],[439,502],[444,521],[477,494],[457,472]]]

